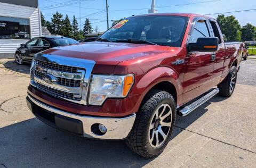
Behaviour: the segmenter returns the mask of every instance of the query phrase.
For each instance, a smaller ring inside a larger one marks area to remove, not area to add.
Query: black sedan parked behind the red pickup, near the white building
[[[30,62],[36,53],[44,51],[45,49],[76,43],[78,43],[78,41],[61,36],[35,37],[30,39],[26,44],[21,44],[20,47],[16,49],[15,61],[18,64]]]

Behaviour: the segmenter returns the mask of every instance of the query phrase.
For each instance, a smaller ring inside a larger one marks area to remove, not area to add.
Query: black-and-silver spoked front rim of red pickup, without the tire
[[[161,147],[170,132],[172,124],[172,110],[168,104],[157,108],[149,124],[148,140],[153,148]]]

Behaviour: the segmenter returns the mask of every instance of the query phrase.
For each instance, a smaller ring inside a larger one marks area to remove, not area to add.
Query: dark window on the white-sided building
[[[29,19],[0,16],[0,39],[30,39]]]

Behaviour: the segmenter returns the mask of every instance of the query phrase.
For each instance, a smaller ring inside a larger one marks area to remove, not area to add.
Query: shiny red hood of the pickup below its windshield
[[[148,54],[167,52],[169,48],[168,46],[96,41],[92,43],[54,47],[47,49],[43,53],[93,60],[100,64],[118,64],[119,62],[146,56]]]

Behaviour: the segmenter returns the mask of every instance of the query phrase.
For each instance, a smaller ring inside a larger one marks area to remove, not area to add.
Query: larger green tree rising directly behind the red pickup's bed
[[[241,41],[241,26],[235,16],[218,15],[217,22],[228,41]]]

